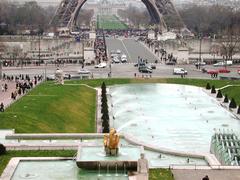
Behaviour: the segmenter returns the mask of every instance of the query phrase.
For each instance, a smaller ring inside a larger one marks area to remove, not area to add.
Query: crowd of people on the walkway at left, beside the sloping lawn
[[[11,99],[16,100],[17,97],[26,94],[29,90],[35,87],[39,82],[43,80],[42,75],[37,75],[30,78],[29,75],[17,75],[7,76],[3,74],[3,84],[1,85],[2,93],[8,92],[8,84],[15,83],[15,88],[11,92]],[[12,90],[12,89],[11,89]],[[0,112],[4,112],[5,105],[3,102],[0,103]]]

